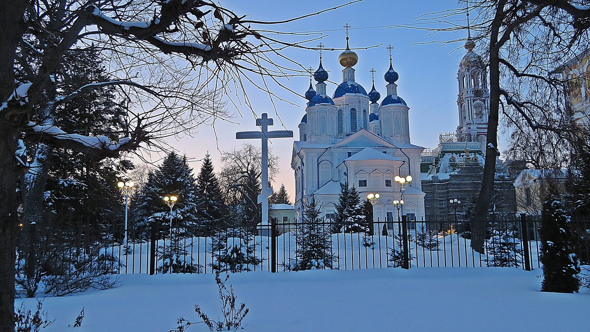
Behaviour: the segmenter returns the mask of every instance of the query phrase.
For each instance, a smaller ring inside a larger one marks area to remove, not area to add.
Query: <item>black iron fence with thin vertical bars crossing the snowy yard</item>
[[[309,234],[302,227],[306,225],[290,220],[204,230],[152,224],[130,229],[127,246],[121,227],[106,226],[92,236],[81,230],[49,232],[36,239],[21,235],[26,240],[21,244],[60,239],[60,245],[27,250],[53,250],[54,255],[68,256],[72,259],[65,262],[70,269],[76,268],[74,258],[83,254],[99,259],[103,270],[119,274],[214,273],[215,269],[276,272],[290,271],[305,255]],[[486,223],[483,250],[471,248],[471,222],[377,221],[341,229],[332,222],[315,225],[314,232],[324,232],[324,251],[331,259],[330,264],[321,264],[334,269],[541,267],[540,225],[525,219]],[[589,263],[590,223],[572,222],[572,226],[576,233],[586,234],[576,237],[575,248],[579,258]],[[27,250],[19,250],[19,256],[26,258]]]

